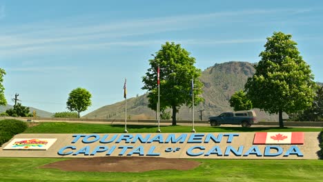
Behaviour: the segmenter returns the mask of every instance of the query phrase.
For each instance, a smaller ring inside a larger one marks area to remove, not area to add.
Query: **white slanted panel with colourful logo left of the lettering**
[[[57,139],[14,139],[3,150],[48,150]]]

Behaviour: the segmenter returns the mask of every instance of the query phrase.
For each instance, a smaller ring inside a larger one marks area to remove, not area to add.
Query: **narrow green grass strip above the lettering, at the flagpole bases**
[[[156,132],[157,125],[127,125],[130,133]],[[190,132],[191,126],[175,125],[161,126],[161,132]],[[211,127],[196,126],[197,132],[320,132],[322,128],[242,128],[242,127]],[[39,123],[34,127],[28,128],[24,133],[122,133],[124,125],[110,124],[88,124],[88,123],[66,123],[48,122]]]

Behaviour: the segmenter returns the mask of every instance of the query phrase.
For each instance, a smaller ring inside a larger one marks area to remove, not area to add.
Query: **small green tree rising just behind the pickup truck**
[[[243,90],[235,92],[229,100],[230,106],[233,110],[251,110],[253,103],[246,97],[246,93]]]

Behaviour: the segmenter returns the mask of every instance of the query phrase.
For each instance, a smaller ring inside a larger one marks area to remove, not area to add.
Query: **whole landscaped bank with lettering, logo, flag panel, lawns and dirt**
[[[127,128],[0,120],[0,181],[322,181],[322,128]]]

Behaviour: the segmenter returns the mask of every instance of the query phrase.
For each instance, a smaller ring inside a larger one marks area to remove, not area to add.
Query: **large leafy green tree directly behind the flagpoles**
[[[157,110],[157,68],[160,68],[160,103],[159,110],[163,112],[166,108],[172,109],[173,125],[176,125],[176,114],[182,105],[192,105],[190,88],[194,80],[194,103],[197,105],[203,101],[199,94],[202,94],[202,83],[198,77],[201,70],[194,66],[195,58],[180,44],[166,42],[161,45],[161,50],[156,52],[154,59],[149,60],[150,68],[146,76],[142,77],[144,87],[148,90],[148,107]]]

